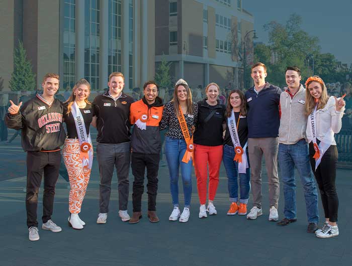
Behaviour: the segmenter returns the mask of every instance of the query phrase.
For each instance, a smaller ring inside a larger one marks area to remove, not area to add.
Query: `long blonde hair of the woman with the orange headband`
[[[307,80],[308,82],[306,82],[306,103],[305,103],[305,107],[306,107],[305,114],[306,115],[311,114],[315,108],[315,105],[316,105],[315,98],[312,95],[310,95],[310,92],[308,89],[310,83],[315,81],[315,82],[318,82],[321,86],[321,96],[318,99],[317,110],[322,109],[326,105],[326,103],[329,99],[324,81],[319,76],[313,76],[313,77],[316,79],[309,80],[310,78],[308,78],[308,80]],[[320,80],[321,80],[321,82],[320,82]]]

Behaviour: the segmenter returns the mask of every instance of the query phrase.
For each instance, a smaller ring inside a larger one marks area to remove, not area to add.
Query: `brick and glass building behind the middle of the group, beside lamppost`
[[[192,87],[243,87],[243,61],[253,61],[247,33],[254,19],[241,0],[155,0],[155,15],[156,67],[164,57],[171,75]]]

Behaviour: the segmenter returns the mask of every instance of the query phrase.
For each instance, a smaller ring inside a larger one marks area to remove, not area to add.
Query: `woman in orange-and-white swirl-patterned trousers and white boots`
[[[91,85],[80,79],[74,85],[72,94],[64,103],[63,118],[67,127],[67,139],[63,147],[63,159],[67,168],[70,192],[68,198],[68,225],[82,229],[85,223],[79,218],[82,201],[91,175],[93,147],[90,125],[93,108],[88,101]]]

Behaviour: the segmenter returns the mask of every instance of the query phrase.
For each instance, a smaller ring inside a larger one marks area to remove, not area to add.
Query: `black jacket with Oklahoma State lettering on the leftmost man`
[[[9,128],[22,129],[25,152],[56,151],[60,150],[66,138],[62,113],[62,102],[58,99],[49,106],[35,96],[22,105],[19,113],[7,113],[5,123]]]

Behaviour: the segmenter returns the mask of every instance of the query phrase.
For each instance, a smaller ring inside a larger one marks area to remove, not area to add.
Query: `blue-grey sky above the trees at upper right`
[[[322,53],[352,64],[352,0],[242,0],[242,8],[254,16],[256,42],[268,43],[264,24],[277,21],[285,25],[296,13],[302,17],[302,29],[319,38]]]

